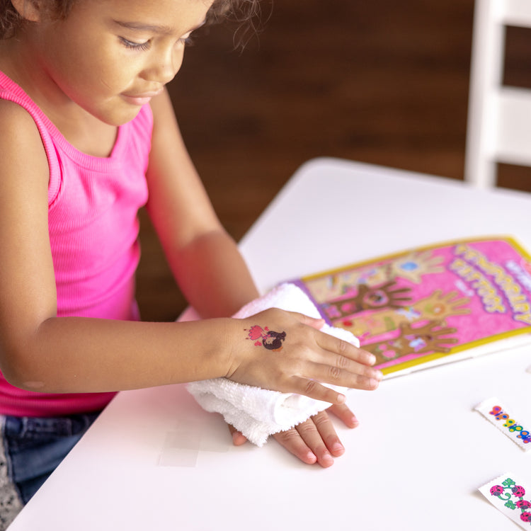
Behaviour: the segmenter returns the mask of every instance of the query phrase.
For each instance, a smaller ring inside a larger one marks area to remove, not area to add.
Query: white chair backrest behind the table
[[[464,178],[482,188],[498,162],[531,166],[531,90],[503,86],[508,25],[531,28],[531,0],[476,0]]]

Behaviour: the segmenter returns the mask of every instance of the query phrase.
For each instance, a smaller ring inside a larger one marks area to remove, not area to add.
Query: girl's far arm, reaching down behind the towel
[[[258,297],[185,149],[166,91],[152,101],[147,210],[173,275],[203,318],[228,317]]]

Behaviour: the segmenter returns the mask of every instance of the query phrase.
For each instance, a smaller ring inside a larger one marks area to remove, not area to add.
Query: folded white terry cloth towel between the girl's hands
[[[263,297],[246,304],[234,314],[234,318],[245,319],[268,308],[320,317],[319,310],[299,287],[295,284],[282,284]],[[325,324],[321,331],[360,346],[358,338],[347,330]],[[333,388],[345,391],[341,387]],[[227,423],[232,424],[258,446],[263,446],[269,435],[289,430],[330,406],[328,402],[307,396],[252,387],[227,378],[192,382],[188,384],[188,391],[203,409],[222,413]]]

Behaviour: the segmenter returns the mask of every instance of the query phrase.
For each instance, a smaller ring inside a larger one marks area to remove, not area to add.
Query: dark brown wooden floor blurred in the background
[[[263,30],[243,52],[233,25],[200,30],[170,91],[230,234],[240,239],[316,156],[462,178],[473,6],[265,2]],[[531,32],[510,28],[507,49],[506,83],[531,86]],[[499,181],[531,191],[529,169],[503,166]],[[185,302],[144,213],[141,239],[142,316],[175,319]]]

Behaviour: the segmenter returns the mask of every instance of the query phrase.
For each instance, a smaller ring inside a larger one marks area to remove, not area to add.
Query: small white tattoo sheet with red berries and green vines
[[[479,492],[496,509],[524,529],[531,530],[531,481],[512,472],[493,479]]]

